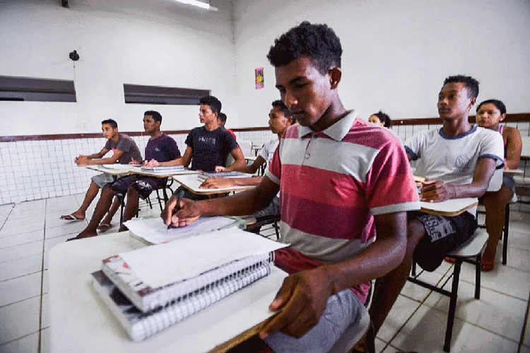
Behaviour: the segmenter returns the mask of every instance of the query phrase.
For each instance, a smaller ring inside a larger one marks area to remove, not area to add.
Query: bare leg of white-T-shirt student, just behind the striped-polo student
[[[392,309],[408,275],[411,273],[412,256],[416,245],[425,236],[425,228],[418,220],[411,220],[407,225],[407,250],[401,265],[387,275],[375,281],[374,297],[370,306],[370,318],[374,323],[375,333],[379,331],[388,313]]]

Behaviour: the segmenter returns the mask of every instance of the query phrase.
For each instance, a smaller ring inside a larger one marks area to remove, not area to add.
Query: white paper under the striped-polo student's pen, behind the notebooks
[[[155,217],[129,220],[124,222],[124,225],[134,236],[151,244],[162,244],[186,236],[211,232],[228,225],[237,226],[237,221],[228,217],[202,217],[187,227],[167,229],[162,219]]]

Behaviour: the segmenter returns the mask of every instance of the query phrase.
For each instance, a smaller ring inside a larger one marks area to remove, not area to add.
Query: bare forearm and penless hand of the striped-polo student
[[[406,251],[406,213],[375,216],[377,240],[352,258],[287,277],[269,309],[282,309],[259,333],[281,330],[301,337],[316,325],[327,299],[343,289],[381,277],[396,268]]]

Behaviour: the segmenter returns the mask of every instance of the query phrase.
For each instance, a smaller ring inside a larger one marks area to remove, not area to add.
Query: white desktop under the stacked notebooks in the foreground
[[[162,222],[162,221],[160,221]],[[103,258],[146,244],[127,232],[69,241],[49,253],[49,352],[225,352],[259,332],[287,276],[271,275],[142,342],[132,342],[91,285]]]

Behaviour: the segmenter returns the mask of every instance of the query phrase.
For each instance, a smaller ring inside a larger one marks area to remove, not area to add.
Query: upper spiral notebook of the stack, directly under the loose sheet
[[[219,281],[226,282],[234,276],[237,279],[251,269],[269,268],[271,263],[273,263],[273,253],[249,256],[213,268],[199,276],[158,288],[150,287],[143,282],[119,255],[103,260],[101,270],[136,308],[145,313],[192,295],[197,290],[215,288]]]

